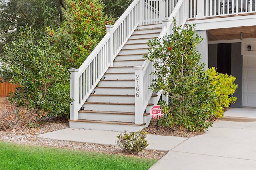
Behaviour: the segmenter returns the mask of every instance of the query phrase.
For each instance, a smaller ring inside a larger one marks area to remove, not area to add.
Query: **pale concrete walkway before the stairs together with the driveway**
[[[120,132],[67,128],[39,137],[115,145]],[[169,152],[150,170],[256,170],[256,108],[231,108],[203,135],[148,135],[147,149]]]

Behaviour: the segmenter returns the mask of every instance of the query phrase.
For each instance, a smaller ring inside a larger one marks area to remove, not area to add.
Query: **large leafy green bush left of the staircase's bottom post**
[[[20,29],[20,40],[6,45],[1,58],[0,78],[18,86],[9,99],[20,106],[28,105],[48,115],[69,113],[69,78],[61,65],[60,53],[47,38],[35,40],[36,32],[26,26]]]

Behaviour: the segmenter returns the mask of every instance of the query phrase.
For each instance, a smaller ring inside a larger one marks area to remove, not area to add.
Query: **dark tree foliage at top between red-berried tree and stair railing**
[[[102,0],[105,4],[104,13],[108,16],[119,18],[133,0]]]

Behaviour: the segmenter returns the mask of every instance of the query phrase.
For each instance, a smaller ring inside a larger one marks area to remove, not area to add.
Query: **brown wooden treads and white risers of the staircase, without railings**
[[[128,132],[148,127],[150,109],[159,95],[152,99],[144,113],[144,123],[135,124],[134,66],[144,63],[148,40],[158,37],[162,24],[138,26],[109,67],[98,86],[78,113],[78,120],[70,120],[70,128]],[[155,98],[155,99],[153,99]]]

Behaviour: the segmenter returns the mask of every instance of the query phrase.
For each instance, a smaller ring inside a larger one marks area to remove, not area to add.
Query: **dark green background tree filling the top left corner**
[[[45,36],[47,26],[56,27],[64,20],[64,0],[0,0],[0,52],[2,46],[20,37],[20,26],[37,30],[35,38]]]

